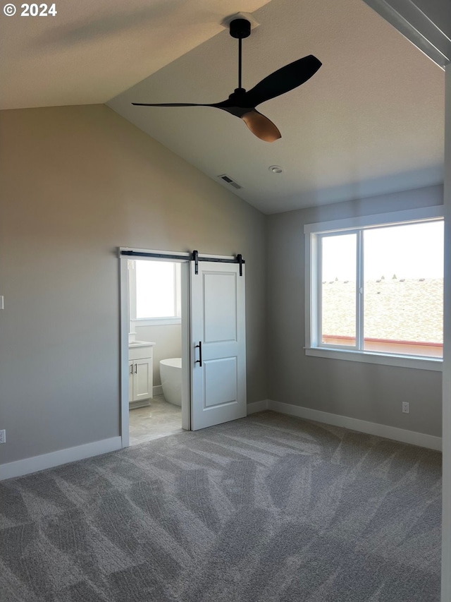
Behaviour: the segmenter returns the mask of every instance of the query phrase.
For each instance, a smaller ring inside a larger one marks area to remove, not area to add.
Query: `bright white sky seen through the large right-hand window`
[[[355,280],[355,234],[323,238],[322,279]],[[368,229],[364,279],[443,278],[443,220]]]

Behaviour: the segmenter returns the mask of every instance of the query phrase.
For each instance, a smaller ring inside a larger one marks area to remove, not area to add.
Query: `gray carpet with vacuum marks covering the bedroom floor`
[[[0,483],[1,602],[438,602],[438,452],[274,412]]]

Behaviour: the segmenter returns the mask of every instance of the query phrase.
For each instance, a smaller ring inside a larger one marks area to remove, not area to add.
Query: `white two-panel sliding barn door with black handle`
[[[191,262],[191,428],[244,418],[245,266]]]

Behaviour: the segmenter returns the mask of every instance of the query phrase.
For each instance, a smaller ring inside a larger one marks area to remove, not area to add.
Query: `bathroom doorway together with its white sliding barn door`
[[[245,417],[242,256],[120,248],[119,258],[123,447]],[[171,350],[154,340],[166,326],[178,328]]]

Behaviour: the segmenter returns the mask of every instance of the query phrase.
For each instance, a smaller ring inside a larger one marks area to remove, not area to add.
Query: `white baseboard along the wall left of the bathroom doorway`
[[[77,445],[76,447],[68,447],[65,450],[58,450],[41,456],[16,460],[16,462],[8,462],[8,464],[0,464],[0,481],[5,478],[14,478],[44,470],[54,468],[68,462],[75,462],[92,456],[99,456],[108,452],[120,450],[122,447],[121,437],[111,437],[111,439],[103,439],[94,441],[94,443],[86,443],[85,445]]]

